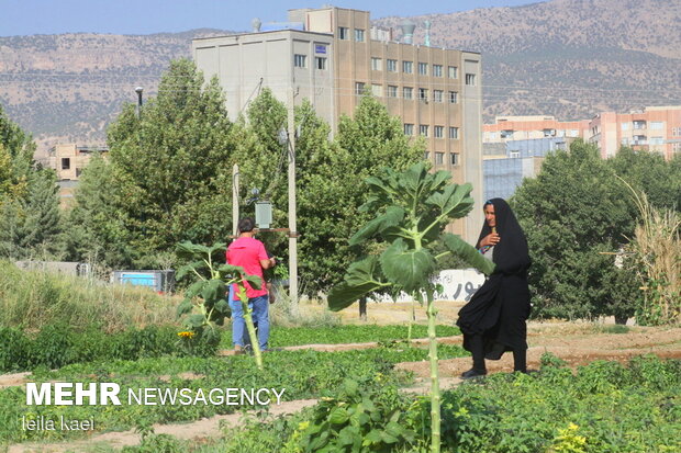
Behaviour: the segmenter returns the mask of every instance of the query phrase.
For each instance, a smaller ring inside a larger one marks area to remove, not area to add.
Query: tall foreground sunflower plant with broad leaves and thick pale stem
[[[359,211],[377,216],[349,242],[359,245],[378,238],[389,246],[379,256],[350,264],[344,282],[328,294],[333,310],[343,309],[372,292],[405,291],[414,299],[427,303],[433,452],[439,452],[440,444],[440,396],[434,306],[437,288],[431,276],[438,270],[438,261],[450,254],[488,274],[494,269],[491,261],[460,237],[444,233],[451,219],[464,217],[473,204],[471,185],[449,183],[450,177],[446,171],[428,173],[425,162],[421,162],[404,172],[387,168],[382,174],[368,178],[369,197]],[[436,247],[444,247],[445,251],[435,254]]]

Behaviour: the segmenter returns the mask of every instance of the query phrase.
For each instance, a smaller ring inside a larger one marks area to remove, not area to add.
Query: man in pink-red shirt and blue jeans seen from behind
[[[269,301],[263,270],[275,265],[275,259],[268,258],[265,245],[254,238],[255,220],[250,217],[242,218],[238,222],[238,238],[227,248],[227,263],[241,265],[247,274],[257,275],[263,280],[260,287],[252,287],[245,282],[248,307],[253,310],[253,321],[258,325],[258,343],[260,350],[267,350],[269,339]],[[233,285],[234,297],[230,301],[232,308],[232,341],[234,350],[241,351],[244,348],[244,330],[246,321],[242,302],[238,299],[238,290]]]

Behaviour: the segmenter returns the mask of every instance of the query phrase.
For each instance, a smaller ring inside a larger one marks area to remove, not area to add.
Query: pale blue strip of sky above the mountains
[[[513,7],[533,0],[0,0],[0,36],[150,34],[192,29],[247,31],[250,20],[286,21],[287,10],[334,4],[371,11],[373,19]]]

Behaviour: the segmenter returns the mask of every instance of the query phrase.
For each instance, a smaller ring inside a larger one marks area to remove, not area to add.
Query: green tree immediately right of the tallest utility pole
[[[368,190],[366,179],[387,165],[400,171],[422,161],[425,144],[411,143],[400,120],[369,95],[362,97],[353,118],[340,118],[331,145],[323,143],[328,126],[311,112],[304,115],[306,129],[299,147],[305,150],[298,192],[300,273],[311,291],[327,290],[371,247],[371,242],[347,242],[371,218],[370,213],[358,211]]]

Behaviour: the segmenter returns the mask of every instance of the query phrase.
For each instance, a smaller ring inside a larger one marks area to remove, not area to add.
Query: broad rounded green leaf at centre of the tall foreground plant
[[[388,281],[408,293],[421,288],[435,271],[435,259],[427,249],[409,249],[402,239],[381,253],[380,262]]]

